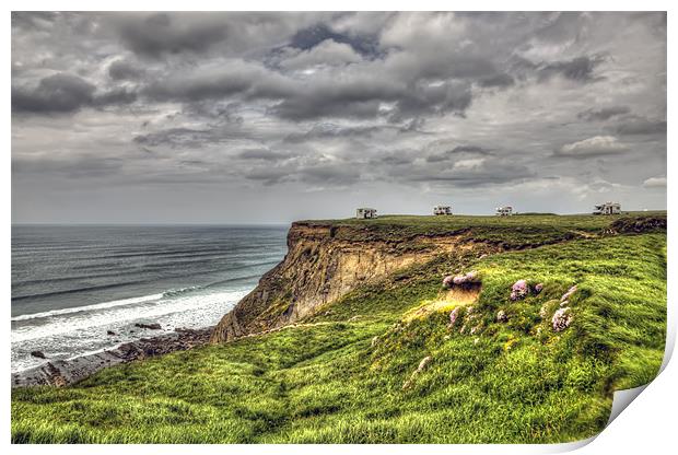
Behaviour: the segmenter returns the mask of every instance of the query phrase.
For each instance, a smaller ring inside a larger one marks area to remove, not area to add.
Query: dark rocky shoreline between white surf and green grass
[[[207,345],[212,329],[213,327],[176,328],[172,334],[141,338],[102,352],[70,360],[48,361],[39,366],[12,373],[12,387],[34,385],[62,387],[74,384],[108,366]]]

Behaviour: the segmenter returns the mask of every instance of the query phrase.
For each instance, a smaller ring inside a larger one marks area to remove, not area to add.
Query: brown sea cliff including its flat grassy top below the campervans
[[[288,254],[226,314],[210,341],[230,341],[314,315],[356,287],[441,254],[480,256],[626,232],[666,230],[666,215],[416,217],[292,223]],[[441,277],[442,279],[442,277]]]

